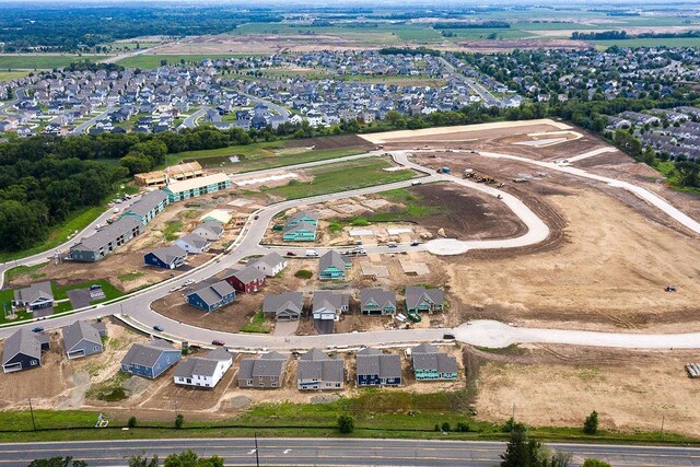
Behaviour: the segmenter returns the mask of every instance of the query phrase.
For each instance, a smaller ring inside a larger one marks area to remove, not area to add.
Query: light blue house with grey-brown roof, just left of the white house
[[[163,339],[135,343],[124,359],[121,371],[155,380],[180,359],[180,351]]]

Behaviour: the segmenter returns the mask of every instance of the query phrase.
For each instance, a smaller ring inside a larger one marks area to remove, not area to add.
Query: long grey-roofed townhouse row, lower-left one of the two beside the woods
[[[98,230],[70,247],[68,259],[94,262],[143,232],[143,224],[136,218],[124,218]]]

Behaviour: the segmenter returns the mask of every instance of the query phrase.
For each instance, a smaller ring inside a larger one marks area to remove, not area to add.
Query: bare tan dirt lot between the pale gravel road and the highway
[[[634,352],[567,346],[478,352],[479,418],[580,427],[593,410],[600,429],[700,434],[700,386],[684,364],[697,352]],[[663,397],[661,397],[663,395]]]

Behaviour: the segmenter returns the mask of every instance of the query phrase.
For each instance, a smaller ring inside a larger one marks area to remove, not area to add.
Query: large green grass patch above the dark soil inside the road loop
[[[313,182],[292,180],[285,186],[265,189],[265,192],[285,199],[298,199],[407,180],[416,175],[413,171],[383,171],[392,166],[394,165],[389,161],[382,159],[330,164],[311,170]]]

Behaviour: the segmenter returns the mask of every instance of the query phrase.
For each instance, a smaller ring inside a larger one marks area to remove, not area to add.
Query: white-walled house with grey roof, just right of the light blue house
[[[191,357],[175,367],[175,384],[185,386],[213,388],[229,371],[235,359],[235,353],[218,348],[205,357]]]

